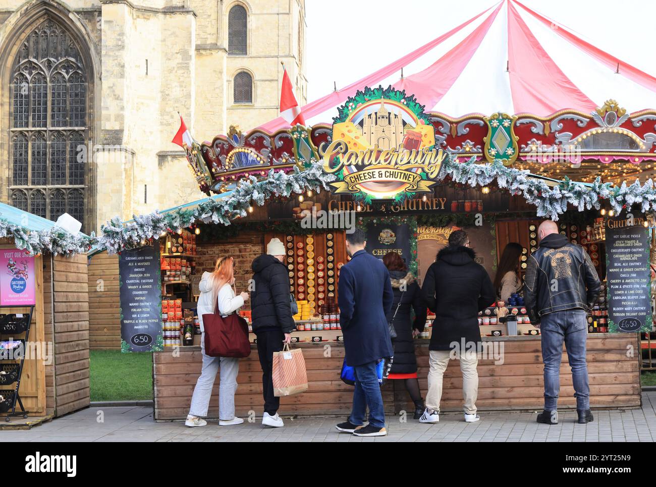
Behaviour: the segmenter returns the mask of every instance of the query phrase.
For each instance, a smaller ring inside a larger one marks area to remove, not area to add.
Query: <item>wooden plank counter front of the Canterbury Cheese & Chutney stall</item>
[[[480,411],[540,410],[543,407],[543,362],[541,337],[483,337],[487,356],[478,362]],[[428,343],[415,341],[422,396],[428,387]],[[348,415],[353,387],[344,384],[340,370],[344,344],[337,341],[296,343],[303,350],[308,371],[308,391],[281,398],[283,416]],[[641,404],[638,335],[634,333],[591,333],[587,346],[592,408],[636,408]],[[200,347],[180,347],[154,352],[155,419],[184,419],[201,370]],[[453,361],[455,362],[455,361]],[[462,409],[462,377],[459,364],[449,364],[444,377],[442,410]],[[564,351],[560,376],[559,408],[575,408],[571,373]],[[218,418],[217,376],[209,407],[209,417]],[[237,376],[236,413],[247,417],[262,415],[262,371],[255,345],[251,355],[241,359]],[[388,381],[382,388],[386,414],[414,410],[403,381]]]

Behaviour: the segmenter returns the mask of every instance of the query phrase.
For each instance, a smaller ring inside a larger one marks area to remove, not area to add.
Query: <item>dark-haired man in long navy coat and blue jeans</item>
[[[384,264],[365,251],[365,232],[356,228],[346,234],[346,252],[351,261],[339,273],[338,305],[344,334],[346,364],[354,368],[356,390],[348,421],[339,431],[357,436],[384,436],[385,413],[376,366],[391,357],[392,341],[386,315],[392,309],[394,293],[390,273]],[[369,425],[364,426],[369,406]]]

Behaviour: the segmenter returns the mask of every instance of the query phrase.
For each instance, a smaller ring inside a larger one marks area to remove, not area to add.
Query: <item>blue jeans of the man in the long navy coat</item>
[[[384,428],[385,410],[382,407],[376,362],[354,366],[353,370],[356,375],[356,390],[353,393],[353,410],[348,417],[348,422],[356,426],[363,425],[369,406],[369,424]]]

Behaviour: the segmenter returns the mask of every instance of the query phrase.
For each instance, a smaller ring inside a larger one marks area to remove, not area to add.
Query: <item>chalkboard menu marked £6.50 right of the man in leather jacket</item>
[[[650,331],[649,243],[642,219],[606,221],[606,280],[609,331]]]

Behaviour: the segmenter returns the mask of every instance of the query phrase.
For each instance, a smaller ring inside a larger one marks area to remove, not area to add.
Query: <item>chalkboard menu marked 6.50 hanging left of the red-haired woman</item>
[[[163,349],[159,242],[119,256],[121,352]]]

